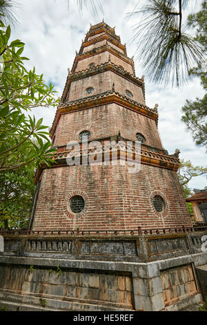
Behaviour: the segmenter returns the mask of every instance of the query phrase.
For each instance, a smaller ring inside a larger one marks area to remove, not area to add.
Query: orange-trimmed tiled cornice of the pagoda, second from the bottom
[[[111,103],[117,103],[120,106],[124,106],[132,111],[139,112],[141,115],[146,115],[148,118],[152,118],[153,120],[157,121],[158,113],[154,109],[150,109],[144,104],[136,102],[125,95],[121,95],[117,91],[109,90],[97,95],[91,95],[88,97],[83,97],[79,100],[72,100],[61,104],[56,111],[55,119],[50,129],[51,135],[53,136],[55,133],[55,129],[61,114]]]

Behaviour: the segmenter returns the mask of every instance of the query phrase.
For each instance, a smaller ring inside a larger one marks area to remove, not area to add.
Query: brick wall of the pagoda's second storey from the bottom
[[[79,140],[79,133],[83,130],[90,131],[90,140],[109,138],[120,131],[124,138],[136,141],[136,133],[139,132],[146,138],[146,145],[162,147],[155,120],[118,104],[61,115],[55,145],[66,145],[71,140]]]

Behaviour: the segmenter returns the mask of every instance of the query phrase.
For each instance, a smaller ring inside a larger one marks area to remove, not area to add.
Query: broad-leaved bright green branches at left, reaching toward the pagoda
[[[0,21],[0,28],[0,171],[29,164],[50,166],[55,149],[48,140],[47,127],[42,118],[37,121],[28,113],[35,107],[57,105],[54,86],[46,85],[35,68],[26,70],[23,62],[28,58],[21,56],[23,42],[16,39],[9,43],[10,26],[5,28]]]

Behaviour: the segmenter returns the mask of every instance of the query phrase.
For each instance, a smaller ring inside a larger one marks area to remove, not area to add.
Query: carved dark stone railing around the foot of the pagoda
[[[4,252],[23,257],[155,261],[203,252],[207,227],[142,230],[4,230]],[[51,255],[52,254],[52,255]]]

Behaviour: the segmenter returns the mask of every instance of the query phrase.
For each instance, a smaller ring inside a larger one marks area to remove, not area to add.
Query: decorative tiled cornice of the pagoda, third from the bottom
[[[97,64],[94,68],[86,68],[85,70],[82,70],[82,71],[70,73],[70,75],[68,75],[65,87],[63,89],[63,94],[61,96],[61,102],[65,102],[66,96],[67,96],[67,93],[68,93],[68,90],[70,88],[70,84],[72,81],[83,79],[90,75],[96,75],[97,73],[101,73],[103,71],[113,71],[113,72],[121,75],[122,77],[124,77],[127,80],[130,80],[134,84],[141,86],[142,91],[144,93],[144,80],[141,80],[141,79],[135,77],[135,75],[132,75],[132,73],[129,73],[124,68],[120,68],[119,66],[117,66],[117,64],[115,64],[113,62],[104,62],[101,64]]]

